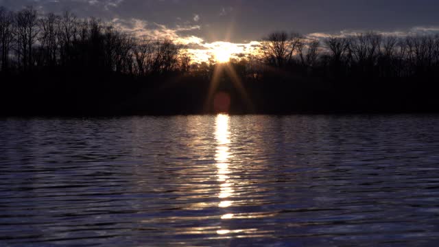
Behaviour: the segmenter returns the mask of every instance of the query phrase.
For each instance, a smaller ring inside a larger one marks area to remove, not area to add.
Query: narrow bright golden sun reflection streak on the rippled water
[[[230,182],[230,131],[229,131],[230,117],[228,115],[219,114],[216,117],[216,131],[215,139],[217,141],[217,148],[215,153],[215,165],[217,167],[217,181],[220,183],[219,196],[220,202],[218,207],[227,208],[233,204],[233,201],[228,200],[233,196],[233,184]],[[222,215],[222,220],[233,218],[232,213]],[[217,234],[224,235],[230,233],[228,230],[218,230]]]

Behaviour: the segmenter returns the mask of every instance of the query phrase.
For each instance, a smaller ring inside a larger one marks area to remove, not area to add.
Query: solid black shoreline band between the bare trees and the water
[[[211,82],[192,76],[132,78],[99,75],[91,80],[11,76],[1,78],[1,117],[123,117],[211,115],[389,115],[439,113],[433,82],[417,78],[379,78],[367,84],[355,78],[278,78],[242,82],[248,100],[224,79],[216,93],[230,95],[228,110],[215,110]],[[92,76],[93,78],[93,76]],[[2,80],[3,79],[3,80]],[[348,85],[349,82],[355,85]],[[337,83],[336,86],[331,86]],[[380,86],[385,84],[385,86]],[[413,86],[416,84],[416,86]],[[348,85],[348,86],[346,86]],[[396,85],[399,88],[396,89]],[[210,100],[210,102],[208,102]],[[251,106],[250,106],[251,104]]]

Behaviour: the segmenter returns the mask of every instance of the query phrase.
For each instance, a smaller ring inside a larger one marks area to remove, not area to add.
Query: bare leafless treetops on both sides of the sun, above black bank
[[[303,75],[370,77],[437,76],[439,36],[383,36],[375,32],[329,36],[323,40],[274,32],[261,40],[259,54],[243,56],[248,75],[273,68]],[[41,16],[27,7],[0,7],[1,71],[56,67],[114,71],[132,75],[200,70],[182,45],[172,40],[130,36],[98,19],[78,19],[71,12]]]

